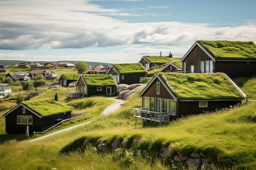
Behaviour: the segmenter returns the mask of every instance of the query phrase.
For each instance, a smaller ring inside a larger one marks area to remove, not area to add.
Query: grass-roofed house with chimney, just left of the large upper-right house
[[[159,68],[160,66],[168,64],[169,62],[173,62],[175,60],[179,59],[173,58],[173,55],[171,53],[169,54],[169,56],[162,56],[161,54],[160,56],[145,55],[141,57],[139,63],[141,63],[146,68],[146,70],[150,71],[152,69]],[[181,68],[181,66],[178,67]]]

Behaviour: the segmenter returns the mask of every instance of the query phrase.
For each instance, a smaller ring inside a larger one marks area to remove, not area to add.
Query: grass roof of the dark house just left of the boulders
[[[83,74],[83,79],[88,87],[116,86],[115,79],[112,75]]]

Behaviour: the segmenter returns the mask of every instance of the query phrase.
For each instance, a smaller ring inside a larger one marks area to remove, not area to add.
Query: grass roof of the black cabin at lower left
[[[58,113],[65,113],[73,110],[72,106],[67,106],[62,102],[57,102],[54,99],[32,101],[28,100],[22,102],[22,104],[25,104],[27,107],[36,111],[41,116],[55,115]]]

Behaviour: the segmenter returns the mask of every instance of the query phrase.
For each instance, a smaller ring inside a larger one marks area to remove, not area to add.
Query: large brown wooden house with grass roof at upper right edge
[[[229,77],[256,74],[256,45],[241,41],[196,41],[182,57],[189,73],[226,73]]]

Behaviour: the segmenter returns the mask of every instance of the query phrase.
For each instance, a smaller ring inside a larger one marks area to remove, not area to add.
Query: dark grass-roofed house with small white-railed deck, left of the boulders
[[[79,98],[92,95],[116,95],[117,84],[112,75],[81,74],[76,82],[76,92],[66,92],[67,97]]]

